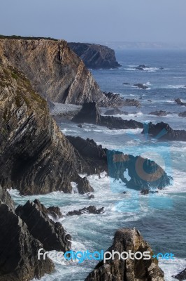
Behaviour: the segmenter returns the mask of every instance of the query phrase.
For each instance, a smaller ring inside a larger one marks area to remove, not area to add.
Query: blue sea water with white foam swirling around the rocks
[[[120,93],[124,98],[140,100],[141,107],[124,107],[124,111],[128,111],[129,115],[121,117],[140,122],[164,121],[173,129],[186,129],[185,118],[178,117],[178,113],[186,111],[186,107],[174,102],[175,98],[182,98],[186,102],[186,51],[125,50],[117,51],[116,55],[122,65],[119,69],[91,71],[102,91],[112,91]],[[143,64],[150,68],[144,71],[134,69],[135,66]],[[159,70],[160,67],[164,69]],[[124,82],[129,85],[124,85]],[[137,89],[133,86],[136,83],[147,84],[149,89]],[[155,110],[166,110],[170,113],[166,117],[149,115]],[[155,139],[147,139],[141,136],[141,129],[110,130],[91,124],[78,128],[77,124],[70,121],[62,122],[59,126],[66,135],[93,138],[105,148],[155,159],[164,167],[167,174],[173,177],[173,182],[157,194],[143,196],[103,173],[101,178],[96,175],[89,176],[95,190],[95,198],[91,201],[87,199],[87,195],[77,193],[66,195],[62,192],[52,192],[48,195],[21,197],[16,190],[11,190],[15,202],[24,204],[28,199],[34,200],[38,197],[46,207],[53,205],[61,207],[64,218],[59,221],[73,237],[73,249],[76,251],[106,250],[112,244],[115,230],[126,227],[138,228],[156,254],[172,252],[175,255],[176,259],[173,261],[160,261],[165,280],[175,280],[171,275],[186,267],[185,143],[173,141],[162,143]],[[123,191],[127,193],[123,194]],[[66,218],[67,211],[90,204],[104,207],[105,213]],[[41,280],[83,281],[95,265],[95,262],[56,264],[55,273],[45,275]]]

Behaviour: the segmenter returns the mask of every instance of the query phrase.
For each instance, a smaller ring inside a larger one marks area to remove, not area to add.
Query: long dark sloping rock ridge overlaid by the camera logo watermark
[[[171,183],[171,178],[166,172],[150,159],[107,150],[88,138],[67,138],[77,150],[76,153],[82,157],[82,169],[88,175],[106,171],[108,176],[116,180],[121,179],[127,188],[136,190],[162,189]],[[126,171],[131,178],[129,181],[124,177]]]

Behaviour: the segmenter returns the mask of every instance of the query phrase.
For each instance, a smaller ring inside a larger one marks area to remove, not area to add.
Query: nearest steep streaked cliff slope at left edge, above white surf
[[[72,192],[71,181],[74,181],[78,182],[79,192],[92,192],[87,179],[78,175],[80,162],[50,117],[45,100],[22,72],[9,65],[1,52],[0,58],[2,187],[17,188],[22,195],[55,190]]]

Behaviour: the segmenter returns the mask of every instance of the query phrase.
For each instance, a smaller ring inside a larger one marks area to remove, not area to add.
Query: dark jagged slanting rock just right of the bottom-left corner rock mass
[[[66,239],[62,224],[55,223],[48,217],[48,210],[39,200],[27,201],[24,206],[18,206],[15,213],[27,223],[29,232],[43,243],[45,250],[69,251],[71,242]]]

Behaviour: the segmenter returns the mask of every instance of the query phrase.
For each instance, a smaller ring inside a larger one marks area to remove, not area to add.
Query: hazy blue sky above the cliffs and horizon
[[[0,0],[0,34],[185,42],[186,0]]]

